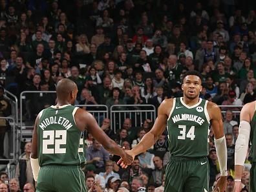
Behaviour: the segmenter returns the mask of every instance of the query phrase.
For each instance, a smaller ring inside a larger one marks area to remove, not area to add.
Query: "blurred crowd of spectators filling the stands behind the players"
[[[109,108],[151,104],[157,110],[165,98],[182,96],[187,70],[198,70],[204,77],[201,98],[218,105],[244,105],[256,97],[255,4],[248,0],[1,0],[1,92],[4,88],[19,98],[23,91],[54,91],[59,80],[70,78],[79,89],[76,104]],[[8,116],[8,101],[2,95],[0,114]],[[24,116],[33,121],[41,109],[55,102],[55,94],[26,94]],[[222,107],[222,111],[228,148],[226,191],[232,191],[239,130],[235,111],[240,108]],[[153,123],[144,118],[138,127],[123,118],[116,133],[107,118],[100,126],[120,146],[131,149]],[[0,156],[7,124],[0,122]],[[87,188],[163,191],[164,167],[170,158],[165,134],[123,170],[115,163],[118,157],[109,155],[87,133]],[[16,178],[1,173],[0,192],[34,191],[29,153],[27,143]],[[244,191],[250,176],[250,160],[246,161]],[[220,170],[211,131],[209,164],[209,186],[214,186]]]

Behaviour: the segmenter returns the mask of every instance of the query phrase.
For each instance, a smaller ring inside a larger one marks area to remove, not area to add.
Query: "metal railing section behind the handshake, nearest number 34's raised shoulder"
[[[111,129],[116,133],[123,126],[123,120],[130,118],[134,127],[142,127],[145,119],[155,121],[154,105],[112,105],[110,108]]]

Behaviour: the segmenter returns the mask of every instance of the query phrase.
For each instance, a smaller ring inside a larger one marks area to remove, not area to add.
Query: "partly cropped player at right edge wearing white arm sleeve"
[[[249,140],[251,142],[250,192],[256,192],[256,102],[246,103],[240,113],[239,136],[235,142],[235,192],[240,192]]]

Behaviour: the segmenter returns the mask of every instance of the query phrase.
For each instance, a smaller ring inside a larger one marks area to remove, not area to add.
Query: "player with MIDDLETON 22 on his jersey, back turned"
[[[122,156],[127,164],[133,158],[100,129],[92,114],[71,105],[78,93],[73,81],[59,81],[56,92],[57,105],[41,111],[34,125],[31,164],[36,191],[85,192],[85,176],[81,171],[85,163],[85,129],[110,153]]]

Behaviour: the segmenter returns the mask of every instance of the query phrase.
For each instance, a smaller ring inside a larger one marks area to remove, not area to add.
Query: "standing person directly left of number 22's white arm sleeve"
[[[25,144],[24,152],[25,155],[21,156],[16,167],[16,177],[19,179],[19,186],[21,189],[23,189],[26,183],[34,183],[32,167],[30,164],[31,142]]]

